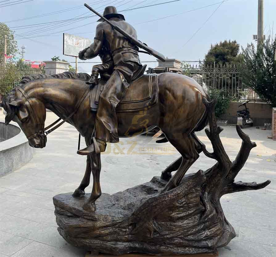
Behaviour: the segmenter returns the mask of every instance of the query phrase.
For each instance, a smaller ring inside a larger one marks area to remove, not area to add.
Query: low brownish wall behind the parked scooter
[[[229,124],[237,124],[237,111],[243,110],[244,107],[238,107],[241,102],[230,102],[225,115],[220,119],[228,120]],[[248,103],[246,107],[249,109],[254,126],[264,126],[266,123],[272,123],[272,107],[266,103]]]

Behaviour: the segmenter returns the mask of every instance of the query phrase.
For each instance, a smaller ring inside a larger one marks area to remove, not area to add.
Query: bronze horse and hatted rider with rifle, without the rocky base
[[[101,151],[105,150],[106,142],[117,142],[119,137],[138,135],[158,126],[181,154],[162,172],[162,178],[169,180],[161,190],[166,192],[179,185],[199,157],[202,143],[194,132],[202,130],[208,121],[203,99],[209,97],[204,89],[195,80],[175,73],[139,77],[143,69],[138,47],[161,60],[164,60],[163,55],[138,41],[134,28],[116,13],[115,8],[107,7],[105,16],[109,19],[102,16],[105,22],[97,26],[94,43],[80,52],[83,59],[97,55],[102,58],[103,64],[93,68],[92,81],[86,73],[34,74],[23,77],[0,103],[7,112],[6,124],[16,121],[32,147],[44,148],[47,135],[64,122],[72,124],[85,138],[88,147],[80,153],[87,155],[86,170],[73,196],[85,194],[92,173],[93,190],[83,206],[91,211],[96,209],[95,201],[101,196]],[[101,87],[95,85],[90,90],[86,82],[97,84],[97,72],[105,78],[99,81]],[[96,102],[92,97],[96,88],[96,95],[100,95],[97,113],[91,111],[91,103]],[[99,88],[103,88],[102,93]],[[46,108],[63,121],[57,124],[57,120],[45,127]],[[96,136],[93,135],[95,127]],[[173,177],[172,169],[178,169]]]

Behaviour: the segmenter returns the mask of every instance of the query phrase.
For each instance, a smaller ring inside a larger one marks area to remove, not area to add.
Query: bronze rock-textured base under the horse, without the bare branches
[[[204,182],[204,173],[199,171],[185,176],[177,188],[158,194],[167,181],[153,177],[123,192],[102,194],[95,212],[82,208],[90,194],[81,198],[72,193],[56,195],[58,231],[68,243],[93,254],[214,252],[227,245],[235,231],[226,219],[217,218],[218,206],[202,198]]]

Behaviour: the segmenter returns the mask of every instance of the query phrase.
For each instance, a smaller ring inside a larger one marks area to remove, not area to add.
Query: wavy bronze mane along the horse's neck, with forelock
[[[45,75],[45,74],[32,74],[29,76],[25,76],[22,78],[22,80],[19,82],[19,84],[13,88],[8,94],[4,96],[2,99],[2,106],[4,110],[7,112],[5,121],[6,125],[10,123],[10,121],[14,117],[14,107],[10,106],[9,103],[14,101],[14,92],[16,88],[23,87],[27,83],[34,81],[34,80],[42,80],[42,79],[76,79],[76,80],[89,80],[90,76],[87,73],[76,73],[72,71],[65,71],[63,73],[59,74],[53,74],[53,75]]]

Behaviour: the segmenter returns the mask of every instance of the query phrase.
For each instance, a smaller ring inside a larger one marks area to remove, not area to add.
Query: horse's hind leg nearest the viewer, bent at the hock
[[[176,135],[177,134],[171,134],[167,138],[183,158],[177,172],[161,190],[161,193],[167,192],[178,186],[187,170],[199,157],[199,154],[196,151],[195,139],[190,134],[183,133],[182,137]]]

